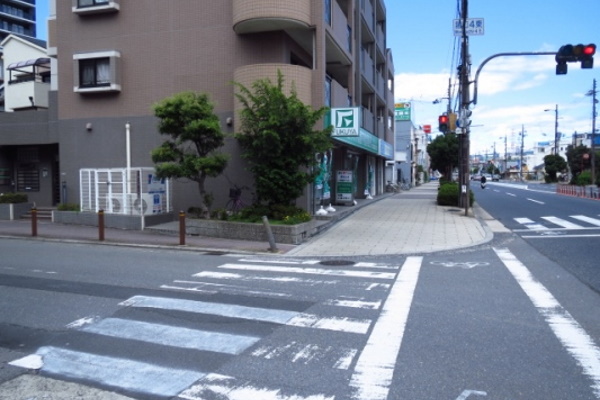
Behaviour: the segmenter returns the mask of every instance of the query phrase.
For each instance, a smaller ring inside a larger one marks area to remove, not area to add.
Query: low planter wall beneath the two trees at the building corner
[[[271,231],[276,243],[300,244],[317,233],[318,225],[316,220],[298,225],[271,225]],[[268,241],[267,230],[262,223],[186,219],[186,233],[224,239]]]

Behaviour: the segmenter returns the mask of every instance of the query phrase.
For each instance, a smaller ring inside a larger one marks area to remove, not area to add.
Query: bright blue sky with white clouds
[[[448,107],[450,78],[455,107],[460,38],[454,36],[453,20],[460,2],[385,0],[395,99],[412,103],[413,123],[432,125],[432,137],[439,134],[438,116]],[[46,39],[48,3],[37,1],[41,39]],[[469,0],[468,10],[469,18],[484,20],[484,34],[469,38],[471,80],[494,54],[558,51],[562,45],[579,43],[600,47],[600,0]],[[556,75],[554,56],[488,62],[479,75],[477,104],[471,106],[471,154],[491,153],[494,145],[503,154],[505,140],[511,152],[520,146],[522,130],[525,148],[553,141],[557,107],[560,133],[570,137],[575,131],[591,132],[592,98],[586,93],[594,79],[600,81],[600,48],[598,53],[595,69],[569,63],[567,75]],[[436,99],[441,102],[433,104]]]

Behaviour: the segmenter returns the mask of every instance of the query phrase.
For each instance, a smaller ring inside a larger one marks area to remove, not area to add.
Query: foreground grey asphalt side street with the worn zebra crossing
[[[0,254],[0,356],[42,377],[144,400],[600,398],[598,294],[512,233],[333,263],[27,240]]]

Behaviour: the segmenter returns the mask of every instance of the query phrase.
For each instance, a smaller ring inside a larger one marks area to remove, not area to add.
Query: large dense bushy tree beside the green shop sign
[[[254,176],[258,204],[293,205],[318,174],[315,154],[332,146],[331,128],[314,128],[327,108],[304,105],[294,88],[287,96],[283,83],[280,71],[276,84],[261,79],[253,91],[235,83],[244,106],[235,137]]]

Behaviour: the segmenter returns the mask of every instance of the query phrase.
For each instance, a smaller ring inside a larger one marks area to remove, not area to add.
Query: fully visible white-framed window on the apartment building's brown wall
[[[119,92],[118,51],[76,54],[74,62],[74,89],[78,93]]]

